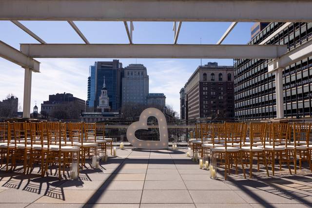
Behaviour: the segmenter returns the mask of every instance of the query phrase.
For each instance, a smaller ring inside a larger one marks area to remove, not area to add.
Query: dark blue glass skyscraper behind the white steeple
[[[98,61],[90,66],[88,77],[88,100],[89,111],[96,111],[99,105],[99,97],[105,76],[105,85],[109,97],[109,106],[112,111],[119,111],[121,106],[121,76],[123,73],[122,63],[119,60]]]

